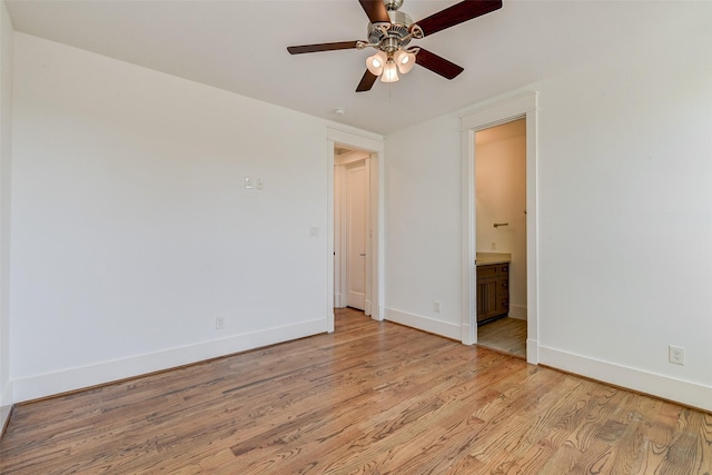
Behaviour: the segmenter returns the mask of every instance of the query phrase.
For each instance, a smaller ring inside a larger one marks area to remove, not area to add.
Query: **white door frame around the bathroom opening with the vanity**
[[[463,140],[463,317],[462,342],[477,343],[477,269],[475,206],[475,132],[515,119],[526,119],[526,360],[538,363],[538,202],[537,92],[526,92],[461,116]]]

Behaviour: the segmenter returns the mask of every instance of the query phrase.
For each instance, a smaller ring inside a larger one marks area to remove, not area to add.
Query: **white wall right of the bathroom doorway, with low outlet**
[[[540,343],[712,388],[712,31],[670,33],[537,85]]]

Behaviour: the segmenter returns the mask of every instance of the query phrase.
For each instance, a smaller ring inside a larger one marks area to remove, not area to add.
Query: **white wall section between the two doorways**
[[[457,117],[421,123],[387,136],[385,166],[385,318],[455,339],[462,319],[459,140]]]

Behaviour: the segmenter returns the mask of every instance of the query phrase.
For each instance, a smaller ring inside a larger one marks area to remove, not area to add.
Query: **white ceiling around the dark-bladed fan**
[[[402,11],[417,21],[456,2],[405,0]],[[454,80],[416,66],[399,82],[357,93],[373,50],[286,50],[366,39],[357,0],[6,3],[18,31],[378,133],[525,87],[623,42],[644,46],[709,22],[693,2],[504,0],[501,10],[412,43],[464,67]],[[339,107],[345,115],[333,112]]]

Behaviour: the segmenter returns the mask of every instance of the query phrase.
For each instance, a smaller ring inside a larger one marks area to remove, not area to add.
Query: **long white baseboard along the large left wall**
[[[195,345],[169,348],[96,365],[30,376],[11,382],[12,402],[21,403],[97,386],[205,359],[246,352],[326,331],[326,318],[233,335]],[[3,400],[3,404],[6,402]]]

